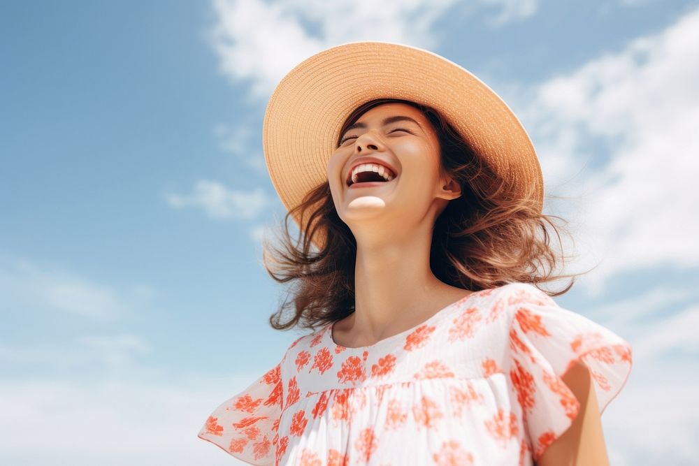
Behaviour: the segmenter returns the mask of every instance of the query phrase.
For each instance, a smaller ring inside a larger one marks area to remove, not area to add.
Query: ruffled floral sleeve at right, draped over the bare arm
[[[576,362],[590,370],[600,413],[626,384],[631,346],[611,330],[570,310],[531,284],[511,286],[510,381],[539,460],[567,430],[580,404],[561,376]]]

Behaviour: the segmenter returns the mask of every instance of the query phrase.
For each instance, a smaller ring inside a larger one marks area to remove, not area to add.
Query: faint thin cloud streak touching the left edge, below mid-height
[[[138,301],[147,299],[143,294],[145,290],[135,288],[131,296],[127,296],[54,265],[26,260],[0,262],[0,310],[3,312],[39,308],[108,319],[129,312]]]

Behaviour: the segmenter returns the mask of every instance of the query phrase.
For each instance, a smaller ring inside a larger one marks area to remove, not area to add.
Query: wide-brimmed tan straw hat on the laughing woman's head
[[[514,196],[534,184],[541,210],[539,161],[507,104],[475,75],[438,54],[378,41],[345,43],[305,59],[269,99],[262,144],[272,184],[287,210],[327,181],[327,163],[345,119],[359,105],[381,98],[438,110],[496,175],[512,182]],[[305,227],[305,219],[294,219]]]

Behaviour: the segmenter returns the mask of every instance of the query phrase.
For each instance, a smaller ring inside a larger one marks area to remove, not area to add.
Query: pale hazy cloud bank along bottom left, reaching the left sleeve
[[[27,466],[241,464],[196,434],[208,414],[250,380],[3,381],[0,461]]]

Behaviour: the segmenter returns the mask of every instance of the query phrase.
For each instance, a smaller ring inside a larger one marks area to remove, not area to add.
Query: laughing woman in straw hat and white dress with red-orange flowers
[[[608,463],[600,413],[631,348],[535,286],[571,275],[542,270],[538,159],[491,89],[431,52],[349,43],[280,82],[263,133],[301,228],[265,254],[297,285],[271,323],[314,331],[199,437],[257,465]]]

